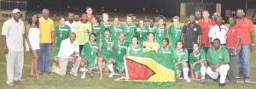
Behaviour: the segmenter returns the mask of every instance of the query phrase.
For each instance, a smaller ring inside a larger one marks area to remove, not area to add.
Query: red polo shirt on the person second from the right
[[[238,25],[230,26],[229,31],[226,33],[227,36],[227,47],[235,48],[237,37],[241,37],[241,29],[238,27]],[[243,38],[241,39],[241,41]],[[241,47],[241,43],[238,45],[238,47]]]

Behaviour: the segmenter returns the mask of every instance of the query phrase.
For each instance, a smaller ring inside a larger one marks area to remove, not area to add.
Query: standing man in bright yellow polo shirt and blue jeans
[[[52,19],[49,18],[49,9],[44,8],[42,11],[43,16],[39,18],[40,30],[40,50],[38,60],[38,73],[43,75],[49,74],[49,58],[51,54],[51,46],[55,42],[55,25]],[[44,58],[44,62],[43,62]]]

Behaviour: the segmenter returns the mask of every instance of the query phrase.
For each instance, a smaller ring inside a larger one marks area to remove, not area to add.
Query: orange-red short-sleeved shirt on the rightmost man
[[[241,29],[241,44],[251,44],[251,31],[254,30],[253,21],[244,17],[242,20],[236,19],[236,25]]]

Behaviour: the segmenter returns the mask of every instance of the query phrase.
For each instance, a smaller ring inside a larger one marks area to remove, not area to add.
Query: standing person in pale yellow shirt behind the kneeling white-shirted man
[[[82,14],[81,19],[75,28],[75,33],[77,35],[76,41],[79,42],[79,53],[81,53],[84,43],[88,42],[91,32],[91,24],[86,18],[87,14]]]

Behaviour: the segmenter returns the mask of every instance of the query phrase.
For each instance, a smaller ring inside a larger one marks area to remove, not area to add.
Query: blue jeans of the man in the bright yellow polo
[[[38,58],[38,70],[48,71],[49,58],[51,54],[51,43],[40,43],[39,58]],[[43,63],[44,56],[44,63]]]

